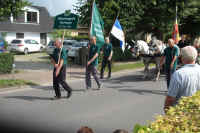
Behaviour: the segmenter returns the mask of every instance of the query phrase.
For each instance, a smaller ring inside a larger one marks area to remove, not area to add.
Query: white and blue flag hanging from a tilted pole
[[[118,19],[115,20],[115,23],[114,23],[112,30],[111,30],[111,34],[114,37],[116,37],[118,40],[120,40],[120,47],[124,51],[124,49],[125,49],[125,37],[124,37],[124,32],[122,30],[122,27],[121,27]]]

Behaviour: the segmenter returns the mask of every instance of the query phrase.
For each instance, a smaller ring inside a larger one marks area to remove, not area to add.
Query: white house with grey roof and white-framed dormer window
[[[10,17],[0,22],[0,33],[6,33],[5,40],[34,39],[39,43],[48,44],[50,32],[53,31],[53,18],[45,7],[28,6],[19,17]]]

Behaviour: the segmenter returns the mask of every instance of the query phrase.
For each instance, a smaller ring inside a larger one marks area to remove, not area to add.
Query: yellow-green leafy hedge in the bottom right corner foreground
[[[200,91],[191,97],[183,97],[179,104],[170,107],[163,116],[148,126],[136,125],[133,133],[199,133]]]

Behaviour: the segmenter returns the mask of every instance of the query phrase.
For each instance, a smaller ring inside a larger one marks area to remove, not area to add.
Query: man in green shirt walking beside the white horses
[[[162,69],[162,65],[165,61],[167,88],[169,87],[171,74],[176,70],[177,57],[179,55],[179,49],[175,46],[173,39],[168,40],[168,45],[169,47],[165,48],[164,54],[160,60],[160,69]]]

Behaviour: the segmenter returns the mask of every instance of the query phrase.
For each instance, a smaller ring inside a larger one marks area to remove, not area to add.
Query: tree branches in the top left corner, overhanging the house
[[[30,3],[27,0],[0,0],[0,20],[8,19],[11,14],[18,17],[28,5]]]

